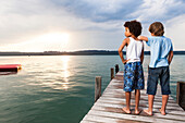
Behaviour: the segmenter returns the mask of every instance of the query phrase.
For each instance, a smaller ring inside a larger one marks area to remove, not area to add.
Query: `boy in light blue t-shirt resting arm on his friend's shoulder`
[[[163,36],[164,27],[162,23],[155,22],[149,26],[151,37],[139,36],[140,40],[145,40],[150,46],[150,64],[148,70],[147,94],[148,110],[144,110],[147,114],[152,115],[153,99],[157,91],[158,79],[160,79],[162,91],[161,114],[165,115],[165,107],[168,103],[170,91],[170,70],[169,65],[173,59],[173,46],[170,38]]]

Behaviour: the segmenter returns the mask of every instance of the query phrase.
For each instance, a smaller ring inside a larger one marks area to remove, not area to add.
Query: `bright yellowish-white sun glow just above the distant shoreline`
[[[67,33],[49,33],[33,37],[18,44],[0,47],[2,50],[11,49],[12,51],[65,51],[70,40]]]

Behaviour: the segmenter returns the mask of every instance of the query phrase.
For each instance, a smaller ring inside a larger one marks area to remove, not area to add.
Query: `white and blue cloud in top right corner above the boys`
[[[143,23],[155,21],[169,21],[174,16],[185,12],[185,3],[183,0],[144,0],[144,3],[132,16],[138,16],[137,20]]]

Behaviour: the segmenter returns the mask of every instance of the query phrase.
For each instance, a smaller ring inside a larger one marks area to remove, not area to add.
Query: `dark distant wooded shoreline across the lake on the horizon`
[[[123,51],[125,54],[126,52]],[[145,56],[150,56],[150,51],[145,51]],[[174,51],[174,54],[185,54],[185,51]],[[10,56],[119,56],[118,51],[109,50],[82,50],[73,52],[44,51],[44,52],[0,52],[0,57]]]

